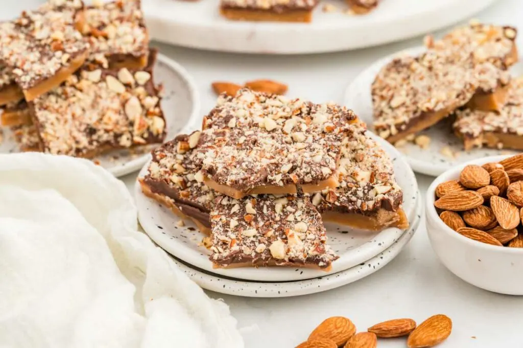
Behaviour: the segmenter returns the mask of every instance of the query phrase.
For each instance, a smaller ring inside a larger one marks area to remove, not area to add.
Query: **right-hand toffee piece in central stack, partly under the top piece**
[[[339,187],[312,196],[324,221],[383,230],[406,229],[408,221],[401,204],[403,191],[394,179],[388,154],[368,137],[365,128],[355,131],[342,144]]]

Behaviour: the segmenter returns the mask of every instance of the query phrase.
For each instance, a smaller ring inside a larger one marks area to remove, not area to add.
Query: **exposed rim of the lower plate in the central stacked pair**
[[[347,273],[349,273],[353,270],[356,271],[356,268],[360,267],[360,265],[348,268],[345,271],[340,271],[338,273],[334,273],[334,274],[331,274],[328,276],[317,277],[317,278],[313,278],[313,279],[294,280],[294,281],[290,281],[290,282],[253,282],[253,281],[248,281],[248,280],[243,280],[243,279],[220,278],[219,275],[207,274],[200,270],[195,270],[194,268],[189,267],[184,263],[180,263],[178,260],[176,260],[175,257],[173,257],[170,254],[169,254],[169,257],[171,257],[171,259],[175,262],[175,264],[178,267],[180,267],[180,270],[182,272],[184,272],[193,282],[198,284],[198,286],[200,286],[203,289],[206,289],[209,291],[214,291],[214,292],[220,293],[220,294],[238,296],[238,297],[279,298],[279,297],[294,297],[294,296],[303,296],[303,295],[310,295],[310,294],[315,294],[315,293],[322,293],[323,291],[332,290],[332,289],[335,289],[335,288],[338,288],[338,287],[341,287],[344,285],[348,285],[350,283],[357,282],[360,279],[363,279],[373,273],[378,272],[383,267],[385,267],[387,264],[389,264],[391,261],[393,261],[403,251],[403,249],[405,249],[405,246],[407,246],[407,244],[410,242],[410,240],[412,239],[414,234],[418,231],[418,229],[421,225],[421,222],[424,220],[425,212],[423,210],[423,206],[424,206],[423,203],[424,203],[423,200],[418,200],[418,204],[416,205],[416,213],[417,213],[416,220],[415,220],[415,223],[412,224],[411,228],[409,228],[405,233],[403,233],[402,236],[396,242],[394,242],[391,246],[389,246],[389,248],[385,249],[383,252],[379,253],[378,255],[373,256],[371,259],[367,260],[365,262],[365,264],[367,264],[368,262],[372,262],[373,260],[377,261],[381,257],[381,255],[384,255],[385,253],[387,253],[387,251],[390,251],[396,245],[401,243],[402,245],[395,252],[395,254],[392,257],[390,257],[390,259],[386,260],[385,262],[383,262],[383,259],[380,259],[381,263],[378,265],[378,267],[361,267],[362,270],[364,270],[364,271],[368,270],[368,272],[357,273],[356,276],[354,276],[353,278],[350,278],[350,280],[348,280],[348,281],[346,279],[346,278],[349,278]],[[395,249],[394,249],[394,251],[395,251]],[[207,280],[205,280],[205,281],[201,280],[201,277],[205,277],[205,278],[207,278]],[[332,280],[329,279],[331,277],[333,278]],[[209,280],[209,279],[212,279],[212,280]],[[218,284],[218,285],[217,286],[211,285],[210,283],[213,281],[215,282],[215,284]],[[314,282],[314,285],[311,285],[311,286],[307,287],[306,289],[290,290],[290,291],[287,290],[285,293],[282,293],[281,289],[279,290],[279,293],[276,290],[274,290],[274,291],[271,291],[269,294],[261,293],[261,291],[260,291],[260,293],[258,293],[257,291],[255,291],[253,293],[252,290],[247,292],[244,289],[244,287],[246,285],[251,286],[253,284],[257,284],[259,286],[291,287],[292,285],[299,286],[305,282]],[[325,282],[329,282],[328,285],[321,284],[321,283],[325,283]],[[234,287],[239,290],[238,292],[232,291],[231,289],[229,289],[229,287],[226,286],[226,285],[228,285],[228,284],[230,285],[232,283],[236,283],[234,285]],[[245,291],[245,292],[242,293],[241,291]]]

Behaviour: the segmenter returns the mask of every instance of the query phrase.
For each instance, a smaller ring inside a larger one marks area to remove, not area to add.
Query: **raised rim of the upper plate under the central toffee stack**
[[[411,207],[412,210],[407,211],[407,216],[410,219],[413,219],[411,216],[414,215],[417,209],[417,204],[420,199],[419,196],[419,188],[417,184],[416,177],[412,171],[412,168],[408,165],[408,163],[405,162],[403,156],[397,149],[395,149],[391,144],[387,143],[383,139],[379,138],[376,134],[372,133],[371,131],[368,131],[371,138],[376,140],[382,147],[386,150],[386,152],[391,156],[392,158],[396,158],[399,161],[402,161],[402,166],[404,167],[405,173],[408,174],[408,177],[406,178],[406,182],[411,183],[412,187],[410,189],[410,193],[414,195],[414,205]],[[143,166],[142,170],[140,171],[138,178],[142,177],[144,173],[147,170],[149,161]],[[304,272],[297,273],[295,271],[291,272],[297,267],[285,267],[285,268],[271,268],[268,272],[261,273],[252,273],[248,272],[251,270],[251,268],[231,268],[231,269],[223,269],[223,268],[212,268],[211,262],[208,260],[208,257],[203,257],[201,253],[198,253],[194,249],[190,247],[186,247],[184,244],[179,244],[180,249],[174,250],[173,245],[170,243],[165,243],[164,237],[162,232],[158,231],[156,224],[154,224],[152,221],[150,221],[151,212],[147,212],[148,209],[143,209],[142,202],[143,200],[151,200],[151,198],[146,197],[141,190],[140,183],[137,181],[134,185],[134,199],[138,207],[138,219],[140,221],[140,224],[145,231],[147,235],[158,245],[161,246],[162,249],[164,249],[167,253],[174,255],[180,260],[183,260],[184,262],[187,262],[188,264],[194,264],[195,266],[201,268],[202,270],[205,270],[207,272],[211,272],[214,274],[219,274],[222,276],[229,276],[229,277],[235,277],[235,278],[242,278],[246,280],[254,280],[254,281],[290,281],[290,280],[303,280],[303,279],[310,279],[314,278],[316,276],[325,276],[328,274],[335,274],[340,271],[344,271],[348,268],[354,267],[358,265],[359,263],[370,259],[371,257],[382,253],[384,250],[389,248],[392,244],[395,243],[395,241],[404,234],[404,231],[399,230],[397,228],[388,228],[385,229],[378,234],[376,234],[371,240],[376,240],[381,235],[382,238],[386,239],[386,243],[364,243],[359,245],[353,253],[350,254],[350,259],[345,261],[346,263],[342,266],[342,263],[337,260],[333,264],[333,270],[325,273],[322,271],[315,271],[315,270],[304,270]],[[155,209],[160,209],[159,206],[156,204],[153,205]],[[157,208],[158,207],[158,208]],[[154,226],[153,226],[154,225]],[[198,255],[197,255],[198,254]],[[343,257],[343,255],[341,256]],[[282,272],[283,271],[283,272]],[[232,274],[232,275],[231,275]],[[289,278],[289,275],[292,274],[292,276]],[[242,276],[243,275],[243,276]],[[265,275],[265,276],[264,276]],[[246,276],[246,277],[245,277]],[[268,280],[270,279],[270,280]]]

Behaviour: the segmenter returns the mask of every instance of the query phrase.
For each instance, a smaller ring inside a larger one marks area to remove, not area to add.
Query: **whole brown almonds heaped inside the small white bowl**
[[[440,219],[478,242],[523,248],[523,154],[499,163],[468,165],[459,179],[435,190]]]

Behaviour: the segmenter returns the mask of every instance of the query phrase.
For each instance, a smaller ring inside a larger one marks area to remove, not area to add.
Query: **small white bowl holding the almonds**
[[[441,221],[434,207],[436,186],[459,178],[465,165],[483,165],[508,157],[492,156],[470,161],[438,176],[427,190],[425,217],[432,248],[450,272],[485,290],[523,295],[523,249],[495,246],[463,237]]]

